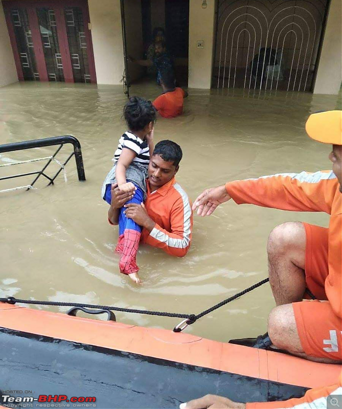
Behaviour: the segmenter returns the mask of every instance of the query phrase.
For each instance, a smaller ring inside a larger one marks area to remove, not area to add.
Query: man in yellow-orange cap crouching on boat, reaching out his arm
[[[332,171],[236,180],[205,190],[193,205],[200,216],[210,216],[217,206],[231,198],[239,205],[252,203],[274,209],[330,214],[329,229],[287,222],[271,232],[267,244],[268,274],[277,306],[268,316],[268,333],[257,338],[233,339],[233,344],[281,349],[317,362],[340,363],[342,360],[341,121],[342,111],[328,111],[312,114],[306,123],[306,131],[312,139],[332,144],[329,155]],[[317,300],[303,301],[310,298],[308,292]],[[331,388],[309,391],[302,399],[252,403],[247,407],[327,407],[326,397],[333,391],[341,395],[340,387],[339,380]],[[316,399],[320,402],[315,402]],[[303,402],[309,405],[302,406]],[[245,404],[207,396],[182,407],[243,408]]]

